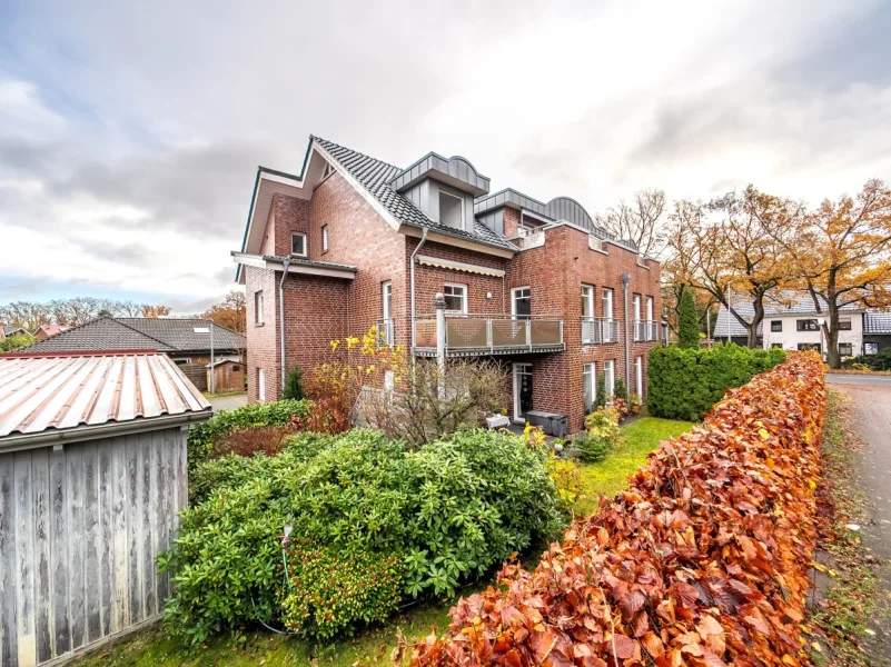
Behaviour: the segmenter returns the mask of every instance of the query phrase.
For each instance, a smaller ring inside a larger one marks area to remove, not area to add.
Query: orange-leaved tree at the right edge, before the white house
[[[841,309],[891,306],[891,189],[870,180],[857,198],[824,200],[801,220],[793,243],[782,229],[773,232],[794,258],[799,286],[824,316],[826,360],[841,368]]]

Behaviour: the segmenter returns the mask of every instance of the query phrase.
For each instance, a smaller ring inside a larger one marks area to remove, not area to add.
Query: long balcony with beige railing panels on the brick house
[[[563,320],[552,316],[447,315],[446,354],[452,357],[558,352],[566,349]],[[436,316],[415,319],[415,354],[436,356]]]

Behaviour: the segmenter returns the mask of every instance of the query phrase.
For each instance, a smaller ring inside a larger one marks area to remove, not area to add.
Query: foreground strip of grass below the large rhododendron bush
[[[465,589],[469,595],[472,590]],[[366,630],[354,638],[330,645],[314,645],[291,636],[268,631],[227,633],[208,641],[206,648],[191,649],[178,637],[168,636],[158,626],[103,647],[72,665],[77,667],[266,667],[307,665],[318,660],[318,667],[350,667],[379,664],[389,667],[389,654],[396,645],[396,629],[409,639],[423,638],[435,628],[437,634],[448,627],[451,605],[432,601],[405,609],[384,626]],[[410,656],[408,656],[410,657]]]

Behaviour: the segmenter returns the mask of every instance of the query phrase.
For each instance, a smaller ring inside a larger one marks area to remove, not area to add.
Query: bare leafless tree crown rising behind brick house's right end
[[[637,245],[641,255],[659,257],[665,249],[665,191],[640,190],[596,216],[596,222],[620,239]]]

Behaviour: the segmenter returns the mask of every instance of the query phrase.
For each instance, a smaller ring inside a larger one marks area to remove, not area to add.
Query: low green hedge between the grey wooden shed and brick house
[[[278,400],[268,404],[250,404],[234,410],[217,412],[205,421],[189,428],[189,475],[207,460],[214,446],[235,430],[257,426],[285,426],[294,417],[304,418],[311,407],[309,400]]]

